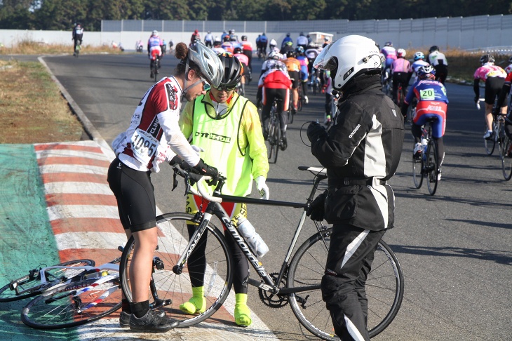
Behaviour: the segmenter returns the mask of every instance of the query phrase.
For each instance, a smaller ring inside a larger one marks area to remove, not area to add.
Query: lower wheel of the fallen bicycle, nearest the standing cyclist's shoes
[[[112,314],[121,308],[119,273],[104,283],[97,283],[99,279],[66,283],[42,293],[22,309],[21,320],[32,328],[60,329]],[[86,287],[89,290],[76,295]]]

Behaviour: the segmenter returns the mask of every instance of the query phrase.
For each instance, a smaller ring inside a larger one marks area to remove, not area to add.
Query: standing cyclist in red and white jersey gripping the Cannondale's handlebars
[[[180,63],[175,75],[165,77],[145,94],[133,113],[130,126],[113,144],[116,159],[110,164],[107,181],[116,196],[119,218],[126,236],[133,236],[137,246],[130,265],[132,302],[123,297],[119,323],[135,332],[163,333],[179,322],[165,312],[149,308],[149,281],[154,250],[157,246],[156,206],[151,173],[158,173],[160,163],[182,161],[203,175],[218,176],[189,145],[178,120],[182,101],[194,100],[208,81],[219,86],[224,75],[217,55],[201,42],[187,48],[177,44]],[[181,159],[180,159],[180,157]]]

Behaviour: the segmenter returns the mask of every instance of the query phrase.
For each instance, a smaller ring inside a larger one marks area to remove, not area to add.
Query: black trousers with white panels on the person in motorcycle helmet
[[[377,244],[385,230],[370,231],[352,225],[332,225],[322,297],[330,311],[336,335],[344,341],[369,341],[365,283]]]

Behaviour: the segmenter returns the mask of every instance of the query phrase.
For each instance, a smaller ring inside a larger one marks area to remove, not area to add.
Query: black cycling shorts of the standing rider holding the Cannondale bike
[[[110,163],[107,181],[116,196],[124,229],[139,232],[156,227],[156,206],[151,172],[126,166],[118,158]]]

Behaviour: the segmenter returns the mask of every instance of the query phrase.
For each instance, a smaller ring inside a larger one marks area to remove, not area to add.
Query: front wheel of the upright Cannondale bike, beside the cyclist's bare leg
[[[151,308],[163,310],[168,317],[180,321],[180,327],[193,326],[217,312],[233,283],[231,253],[222,232],[211,223],[197,241],[182,272],[173,272],[173,267],[189,243],[187,225],[193,228],[192,221],[194,215],[187,213],[168,213],[156,217],[159,236],[158,247],[154,251],[152,281],[148,288],[149,303]],[[132,291],[128,271],[134,247],[132,237],[126,243],[119,265],[123,293],[130,302]],[[203,284],[205,288],[206,311],[201,314],[189,315],[180,310],[180,305],[192,296],[192,283],[195,286]]]

